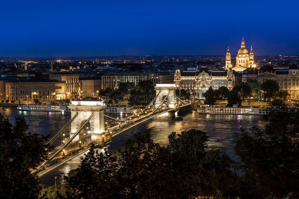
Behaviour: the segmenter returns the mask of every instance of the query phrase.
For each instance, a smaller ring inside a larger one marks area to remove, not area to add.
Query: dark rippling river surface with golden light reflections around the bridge
[[[46,111],[19,111],[16,107],[0,107],[0,113],[4,117],[8,117],[11,123],[14,123],[14,117],[23,114],[29,123],[29,131],[39,134],[56,134],[60,128],[71,118],[70,112],[46,112]],[[237,160],[234,154],[234,133],[239,131],[240,127],[245,129],[251,128],[261,120],[256,115],[213,115],[198,114],[196,111],[178,112],[183,117],[183,121],[161,121],[147,120],[141,124],[113,137],[113,141],[108,146],[108,151],[117,151],[124,148],[124,143],[128,138],[132,138],[135,132],[149,131],[152,139],[160,145],[168,144],[168,135],[173,132],[186,131],[191,128],[205,131],[209,137],[219,138],[223,147],[223,152],[230,155],[233,160]],[[114,114],[114,117],[120,117]],[[46,186],[54,185],[55,177],[57,177],[57,185],[63,183],[63,173],[68,173],[71,169],[77,168],[80,158],[51,170],[40,179]]]

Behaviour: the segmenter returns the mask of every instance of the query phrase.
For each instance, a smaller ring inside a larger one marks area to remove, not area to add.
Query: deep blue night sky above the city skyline
[[[298,55],[298,1],[1,1],[1,56]]]

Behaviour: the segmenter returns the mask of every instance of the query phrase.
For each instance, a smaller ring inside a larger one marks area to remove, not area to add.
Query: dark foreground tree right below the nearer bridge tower
[[[65,176],[67,198],[118,198],[113,195],[117,192],[112,178],[117,168],[115,161],[116,157],[106,149],[99,153],[91,146],[78,168]]]

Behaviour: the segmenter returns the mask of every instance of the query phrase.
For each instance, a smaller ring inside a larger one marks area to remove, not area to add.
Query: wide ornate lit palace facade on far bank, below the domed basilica
[[[198,97],[202,97],[202,94],[210,86],[214,90],[221,86],[231,90],[235,85],[242,82],[242,76],[231,68],[226,71],[209,71],[206,66],[202,66],[199,71],[181,71],[177,69],[174,74],[174,82],[177,88],[194,91]]]

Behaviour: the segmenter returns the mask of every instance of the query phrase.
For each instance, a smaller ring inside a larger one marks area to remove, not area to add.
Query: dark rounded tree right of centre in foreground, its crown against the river
[[[182,198],[220,197],[237,176],[232,172],[233,161],[218,149],[208,150],[208,136],[204,131],[191,129],[181,134],[172,132],[169,136],[174,170],[181,170],[176,176],[182,180]]]

